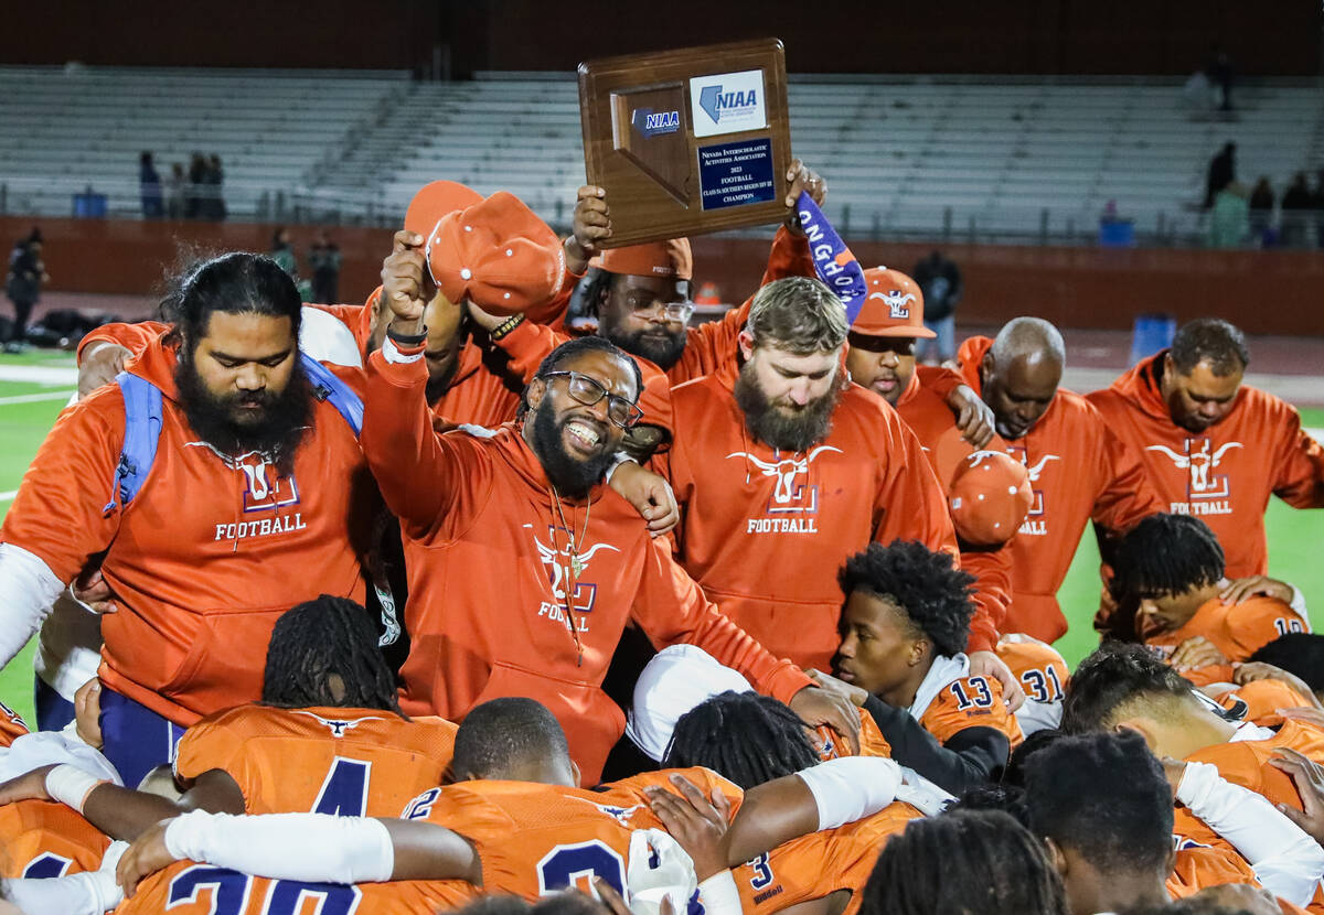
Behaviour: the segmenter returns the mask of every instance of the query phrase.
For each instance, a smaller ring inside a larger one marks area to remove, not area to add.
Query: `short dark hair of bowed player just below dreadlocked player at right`
[[[1112,727],[1117,709],[1141,697],[1190,698],[1190,681],[1144,645],[1103,644],[1071,674],[1062,701],[1062,730],[1090,734]]]

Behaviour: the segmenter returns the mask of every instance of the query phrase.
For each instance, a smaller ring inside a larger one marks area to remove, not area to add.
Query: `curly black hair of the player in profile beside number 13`
[[[865,591],[892,600],[933,643],[937,655],[965,651],[974,577],[956,569],[947,553],[933,553],[915,539],[870,543],[846,559],[837,580],[847,599]]]

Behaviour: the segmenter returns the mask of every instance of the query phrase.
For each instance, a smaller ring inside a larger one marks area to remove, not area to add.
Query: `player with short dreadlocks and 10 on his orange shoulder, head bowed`
[[[1137,637],[1177,669],[1247,661],[1282,635],[1309,631],[1308,619],[1279,598],[1223,600],[1223,549],[1209,525],[1189,514],[1153,514],[1117,545],[1112,588],[1119,606],[1137,607]]]

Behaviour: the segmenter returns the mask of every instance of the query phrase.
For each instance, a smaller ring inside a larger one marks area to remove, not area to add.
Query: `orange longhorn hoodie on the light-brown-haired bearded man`
[[[828,436],[796,455],[749,438],[724,378],[674,387],[671,406],[677,438],[666,459],[683,510],[681,562],[773,655],[828,669],[841,641],[837,573],[871,539],[918,539],[956,555],[919,440],[863,387],[842,391]]]

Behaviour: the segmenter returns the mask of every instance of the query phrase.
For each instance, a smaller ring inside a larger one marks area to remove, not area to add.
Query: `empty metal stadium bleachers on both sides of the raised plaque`
[[[1198,229],[1210,156],[1238,144],[1243,181],[1282,190],[1324,151],[1313,86],[1259,82],[1230,119],[1184,107],[1161,78],[794,77],[792,144],[830,163],[845,231],[1030,238],[1090,233],[1112,202],[1136,230]],[[448,177],[519,194],[564,225],[584,180],[572,74],[0,69],[0,182],[8,212],[65,214],[87,185],[138,209],[136,153],[158,168],[217,152],[238,218],[275,194],[306,214],[393,221]]]

